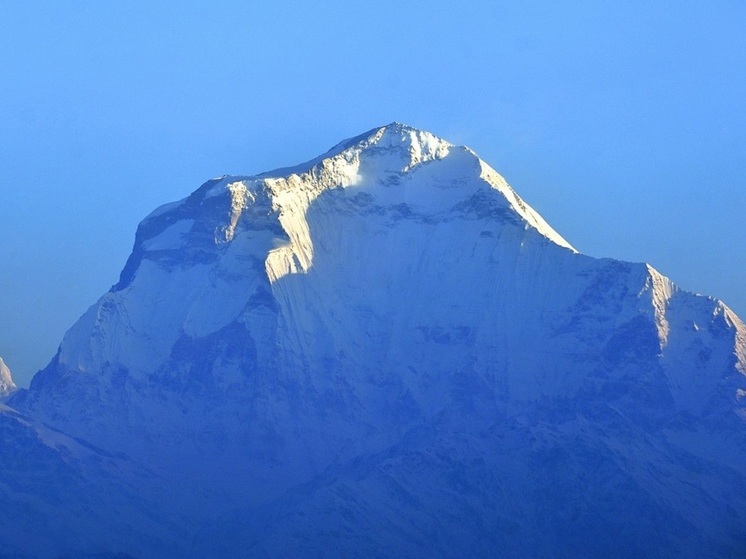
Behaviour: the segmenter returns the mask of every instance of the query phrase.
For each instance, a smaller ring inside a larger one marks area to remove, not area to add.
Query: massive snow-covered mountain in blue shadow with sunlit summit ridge
[[[0,455],[33,440],[83,488],[39,513],[47,551],[736,556],[745,374],[723,303],[579,254],[471,150],[392,124],[145,218]],[[49,492],[9,471],[30,530]],[[78,514],[95,538],[59,535]]]

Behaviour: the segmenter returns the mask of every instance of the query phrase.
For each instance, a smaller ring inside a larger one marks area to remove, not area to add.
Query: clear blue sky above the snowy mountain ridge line
[[[746,2],[0,0],[0,356],[19,385],[206,179],[397,120],[581,252],[746,317]]]

